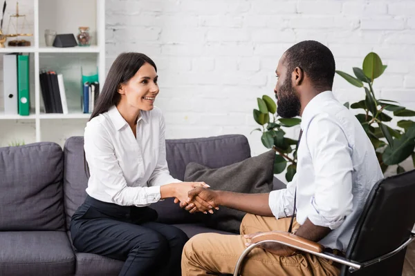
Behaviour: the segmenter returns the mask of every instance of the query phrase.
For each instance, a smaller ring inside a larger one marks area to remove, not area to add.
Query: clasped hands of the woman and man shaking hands
[[[218,192],[208,189],[205,182],[183,182],[177,185],[174,203],[180,202],[180,207],[190,213],[208,212],[213,214],[213,209],[219,210]]]

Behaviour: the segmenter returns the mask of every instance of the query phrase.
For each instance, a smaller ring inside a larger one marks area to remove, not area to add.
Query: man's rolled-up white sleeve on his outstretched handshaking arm
[[[297,186],[297,177],[287,184],[287,188],[281,190],[273,190],[268,198],[273,215],[279,219],[293,215],[295,187]]]

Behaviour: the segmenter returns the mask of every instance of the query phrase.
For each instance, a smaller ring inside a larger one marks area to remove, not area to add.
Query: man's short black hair
[[[335,61],[331,50],[322,43],[306,40],[286,50],[287,73],[301,68],[317,90],[331,89],[335,73]]]

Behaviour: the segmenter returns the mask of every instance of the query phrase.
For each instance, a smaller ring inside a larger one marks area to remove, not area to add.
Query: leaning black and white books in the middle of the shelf
[[[39,75],[39,79],[44,100],[44,111],[46,113],[68,114],[63,75],[56,74],[55,71],[43,70]]]

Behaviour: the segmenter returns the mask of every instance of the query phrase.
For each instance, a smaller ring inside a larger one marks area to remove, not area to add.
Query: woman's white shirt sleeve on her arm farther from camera
[[[160,151],[158,152],[158,159],[156,168],[151,173],[151,176],[147,182],[148,186],[163,186],[170,183],[181,182],[170,175],[169,167],[167,166],[166,160],[166,141],[165,141],[165,119],[160,114]],[[160,189],[160,188],[159,188]]]

